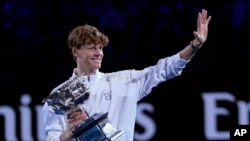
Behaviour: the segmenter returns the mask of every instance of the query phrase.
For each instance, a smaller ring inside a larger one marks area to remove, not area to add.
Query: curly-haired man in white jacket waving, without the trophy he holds
[[[177,77],[186,64],[207,40],[208,24],[211,16],[202,9],[198,13],[197,31],[194,39],[180,52],[160,59],[156,65],[143,70],[123,70],[112,73],[100,72],[103,48],[109,39],[96,27],[85,24],[74,28],[68,36],[68,47],[76,62],[71,78],[84,74],[84,83],[90,88],[85,101],[85,112],[77,109],[68,115],[57,115],[46,102],[43,107],[47,140],[74,140],[72,131],[89,116],[106,113],[115,127],[125,133],[117,140],[133,141],[137,103],[147,96],[153,87]],[[57,90],[60,86],[55,88]]]

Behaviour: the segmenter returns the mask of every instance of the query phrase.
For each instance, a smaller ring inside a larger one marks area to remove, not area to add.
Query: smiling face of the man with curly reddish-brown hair
[[[85,73],[93,73],[101,68],[103,59],[103,47],[101,44],[83,45],[74,51],[77,67]]]

